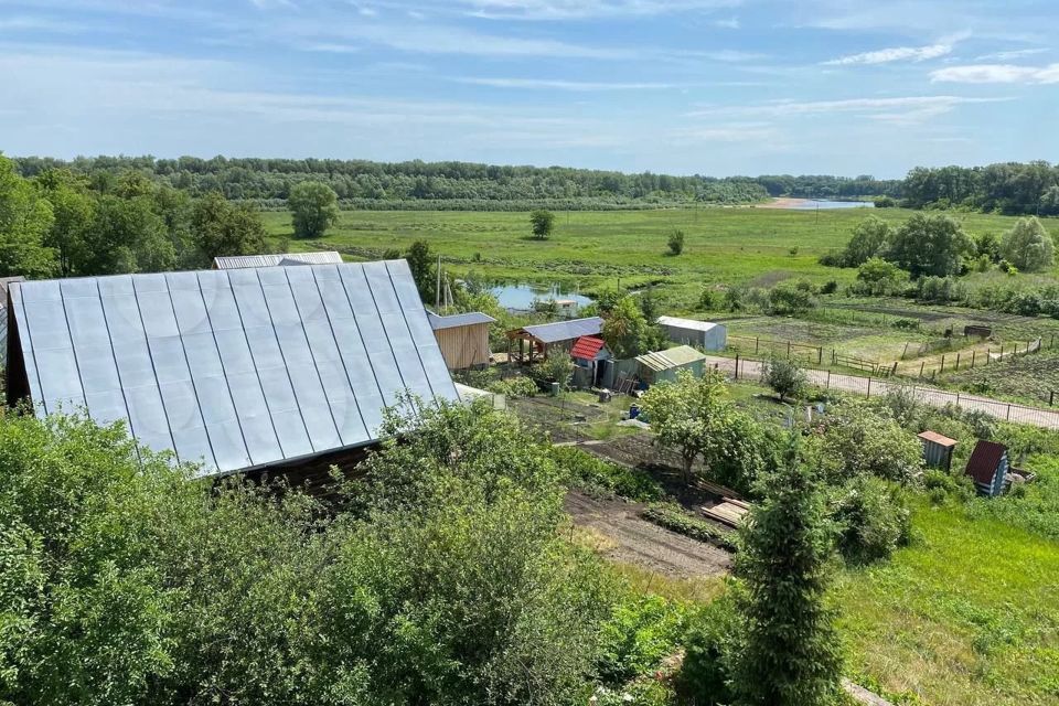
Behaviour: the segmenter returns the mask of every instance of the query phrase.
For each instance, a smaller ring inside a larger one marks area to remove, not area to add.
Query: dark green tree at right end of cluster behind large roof
[[[195,266],[208,267],[213,258],[225,255],[264,253],[265,234],[265,222],[252,205],[233,205],[220,192],[210,192],[192,206]]]

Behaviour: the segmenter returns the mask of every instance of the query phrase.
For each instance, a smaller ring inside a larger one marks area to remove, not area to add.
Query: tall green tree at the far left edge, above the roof
[[[47,200],[0,154],[0,276],[54,272],[55,252],[44,244],[54,220]]]

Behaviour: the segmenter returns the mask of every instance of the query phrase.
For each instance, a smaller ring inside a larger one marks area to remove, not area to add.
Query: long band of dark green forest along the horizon
[[[891,180],[789,174],[718,179],[419,160],[78,157],[64,161],[23,157],[14,158],[14,162],[26,178],[50,168],[71,169],[86,174],[103,193],[121,173],[132,170],[193,196],[221,192],[232,200],[255,201],[264,208],[286,208],[291,186],[321,181],[335,191],[343,206],[373,210],[650,208],[794,196],[889,197],[892,202],[886,203],[913,208],[1059,214],[1059,164],[1048,162],[916,168],[906,179]]]

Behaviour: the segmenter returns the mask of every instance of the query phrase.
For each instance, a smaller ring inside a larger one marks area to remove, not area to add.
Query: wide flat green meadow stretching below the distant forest
[[[879,210],[900,222],[912,212]],[[290,214],[264,214],[275,242],[291,237]],[[853,270],[826,268],[817,258],[845,245],[869,213],[864,210],[785,211],[774,208],[674,208],[559,213],[555,234],[530,237],[525,213],[344,211],[336,226],[314,242],[290,242],[295,249],[333,247],[353,257],[377,257],[426,239],[453,271],[490,279],[558,282],[581,290],[646,284],[685,303],[704,285],[769,284],[785,276],[848,281]],[[1009,228],[1014,218],[955,214],[969,233]],[[685,233],[684,253],[667,254],[666,238]],[[796,248],[792,253],[792,248]]]

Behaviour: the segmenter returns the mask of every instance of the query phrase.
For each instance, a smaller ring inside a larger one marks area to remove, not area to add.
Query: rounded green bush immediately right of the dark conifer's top
[[[905,496],[878,478],[855,478],[841,488],[831,516],[838,530],[838,550],[851,564],[889,558],[911,536]]]

